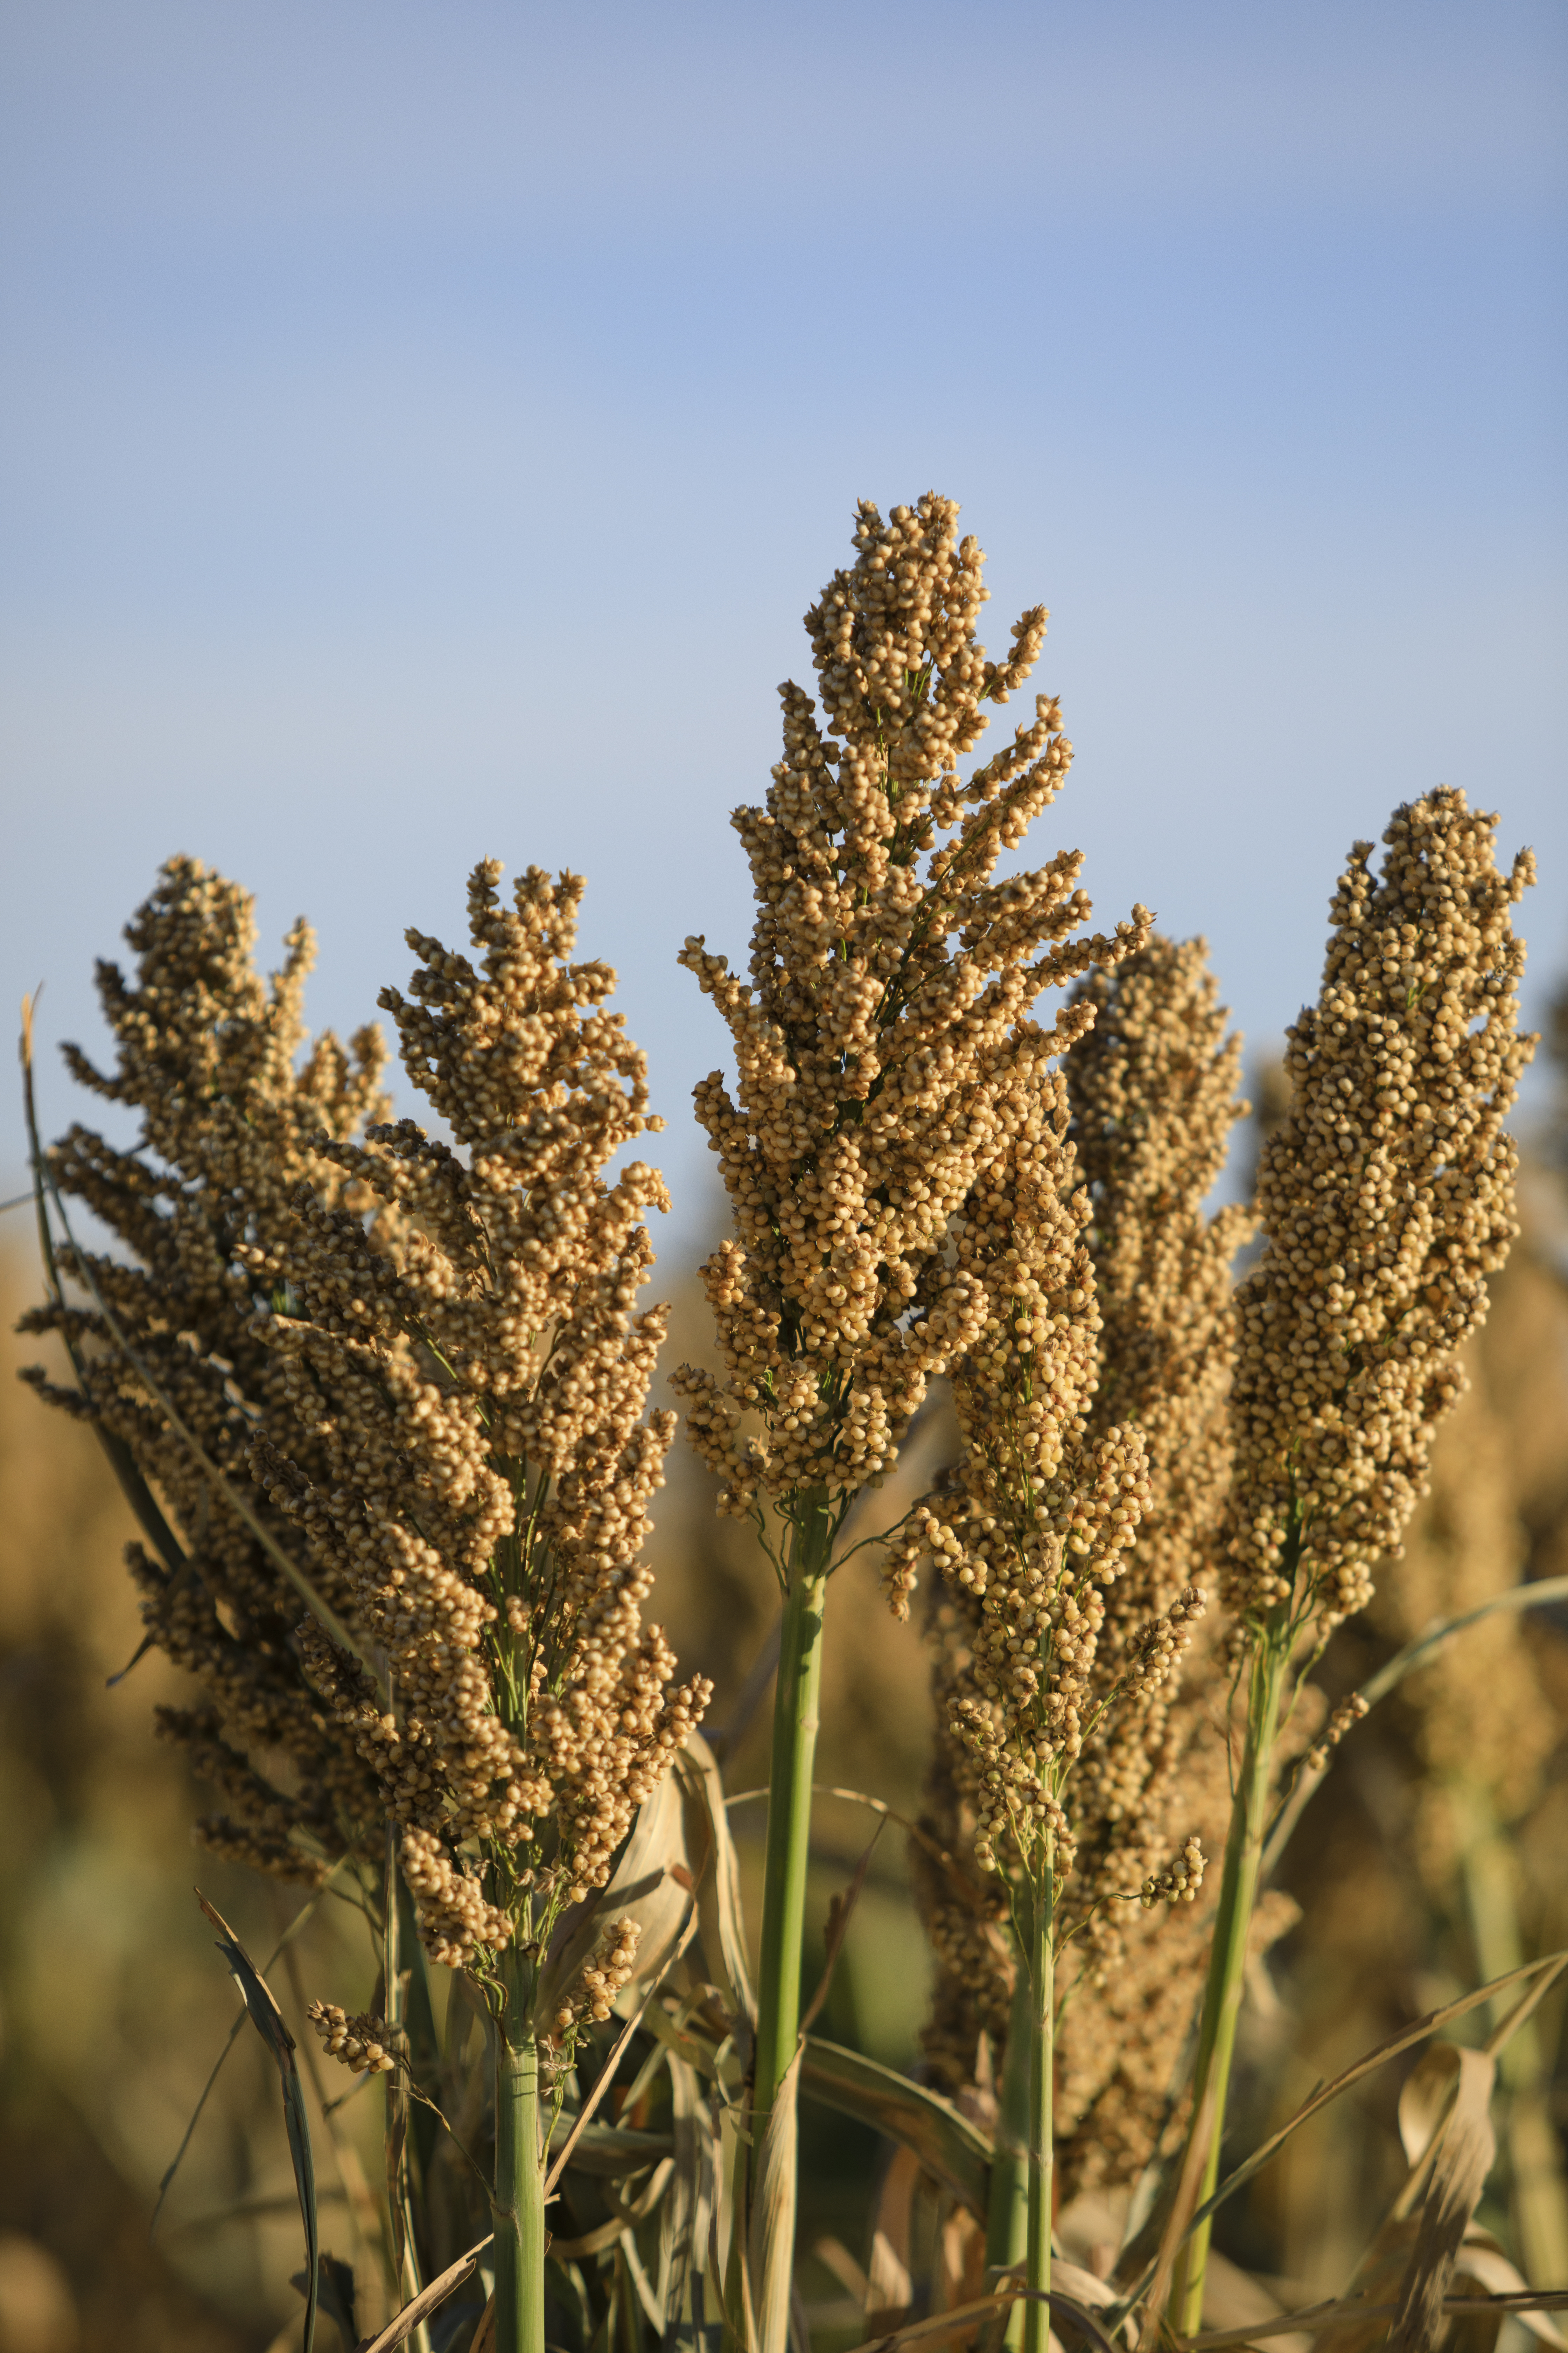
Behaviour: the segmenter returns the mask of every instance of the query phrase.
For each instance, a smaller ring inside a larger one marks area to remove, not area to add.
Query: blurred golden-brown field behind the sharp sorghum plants
[[[1260,1078],[1253,1094],[1267,1118],[1267,1073]],[[1537,1136],[1528,1231],[1497,1282],[1472,1358],[1472,1393],[1439,1445],[1406,1560],[1385,1565],[1368,1619],[1345,1628],[1324,1659],[1328,1699],[1361,1685],[1429,1619],[1519,1579],[1568,1572],[1568,1200],[1559,1144]],[[24,1219],[12,1214],[7,1226],[9,1374],[35,1355],[35,1344],[12,1337],[35,1278]],[[677,1301],[670,1360],[701,1355],[698,1287],[679,1268],[661,1275]],[[926,1461],[940,1454],[940,1414],[922,1447]],[[898,1508],[893,1494],[884,1501]],[[270,1953],[299,1899],[193,1854],[188,1824],[202,1793],[150,1734],[150,1706],[176,1699],[179,1678],[150,1654],[122,1682],[106,1682],[139,1640],[120,1567],[127,1534],[89,1433],[45,1414],[14,1379],[0,1381],[0,2353],[263,2353],[299,2334],[299,2299],[287,2285],[299,2268],[299,2221],[275,2078],[249,2033],[197,2125],[155,2247],[148,2219],[235,2019],[193,1880],[256,1958]],[[682,1661],[717,1682],[710,1729],[726,1784],[733,1793],[757,1788],[766,1774],[766,1687],[752,1668],[773,1598],[745,1532],[712,1515],[708,1473],[679,1447],[658,1499],[654,1555],[656,1612]],[[919,1809],[929,1734],[922,1645],[912,1626],[886,1617],[875,1551],[835,1581],[823,1722],[823,1781],[905,1814]],[[736,1805],[733,1826],[755,1889],[762,1807]],[[809,1977],[820,1967],[830,1897],[875,1828],[863,1807],[820,1800]],[[1237,2146],[1406,2019],[1519,1953],[1568,1944],[1568,1612],[1490,1619],[1359,1725],[1302,1817],[1281,1885],[1302,1915],[1253,1972]],[[755,1918],[755,1904],[750,1911]],[[324,1901],[289,1948],[292,1965],[270,1972],[308,2052],[308,2000],[353,2007],[369,1998],[357,1929],[348,1908]],[[907,1842],[889,1826],[825,2031],[917,2066],[926,1984]],[[1368,2214],[1403,2174],[1396,2094],[1408,2064],[1331,2108],[1229,2209],[1220,2242],[1239,2264],[1302,2294],[1342,2282]],[[343,2144],[334,2158],[313,2094],[324,2242],[350,2261],[376,2228],[378,2108],[371,2089],[334,2118]],[[1542,2005],[1535,2038],[1523,2038],[1497,2118],[1505,2160],[1481,2219],[1514,2252],[1528,2242],[1533,2275],[1568,2278],[1561,1993]],[[886,2151],[820,2108],[806,2108],[804,2129],[802,2247],[832,2238],[865,2264]],[[835,2278],[820,2261],[804,2266],[825,2332],[844,2313]],[[331,2329],[324,2334],[329,2341]]]

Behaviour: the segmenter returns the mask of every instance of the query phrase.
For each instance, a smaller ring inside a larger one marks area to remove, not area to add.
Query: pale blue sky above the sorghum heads
[[[313,918],[339,1026],[475,856],[571,864],[696,1217],[672,958],[745,948],[856,494],[929,487],[997,640],[1051,607],[1095,920],[1274,1040],[1448,781],[1540,852],[1540,998],[1566,68],[1556,0],[5,0],[5,1005],[92,1047],[174,849]]]

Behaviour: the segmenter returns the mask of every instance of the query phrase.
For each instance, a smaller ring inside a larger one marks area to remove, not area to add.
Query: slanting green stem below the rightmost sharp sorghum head
[[[1241,1991],[1246,1981],[1246,1944],[1258,1906],[1258,1866],[1262,1861],[1262,1833],[1269,1809],[1269,1772],[1274,1765],[1274,1739],[1279,1734],[1279,1701],[1291,1664],[1291,1617],[1288,1605],[1279,1605],[1265,1619],[1253,1647],[1253,1671],[1246,1689],[1246,1746],[1241,1751],[1241,1777],[1229,1809],[1229,1835],[1225,1840],[1225,1871],[1220,1878],[1220,1904],[1213,1920],[1213,1946],[1208,1953],[1208,1984],[1204,1988],[1204,2019],[1199,2026],[1197,2064],[1192,2071],[1192,2125],[1204,2129],[1208,2108],[1208,2155],[1199,2184],[1201,2205],[1220,2179],[1220,2141],[1225,2139],[1225,2097],[1229,2092],[1229,2064],[1237,2049],[1237,2019],[1241,2014]],[[1208,2271],[1211,2221],[1201,2221],[1175,2261],[1171,2285],[1173,2325],[1192,2337],[1204,2315],[1204,2275]]]

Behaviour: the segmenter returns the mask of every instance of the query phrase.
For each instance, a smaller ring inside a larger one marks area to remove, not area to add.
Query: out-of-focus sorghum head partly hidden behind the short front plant
[[[1060,1948],[1070,1939],[1074,1944],[1074,1993],[1056,2042],[1053,2167],[1063,2202],[1081,2186],[1135,2179],[1147,2162],[1164,2132],[1175,2059],[1161,2045],[1187,2031],[1201,2000],[1208,1939],[1194,1934],[1194,1908],[1171,1915],[1159,1897],[1180,1894],[1182,1904],[1197,1897],[1185,1849],[1180,1873],[1166,1871],[1182,1831],[1192,1847],[1211,1840],[1218,1852],[1225,1840],[1229,1772],[1208,1734],[1213,1668],[1199,1647],[1182,1654],[1180,1673],[1150,1687],[1135,1659],[1152,1621],[1185,1593],[1194,1595],[1197,1612],[1197,1581],[1213,1562],[1229,1473],[1229,1259],[1248,1224],[1241,1209],[1208,1217],[1204,1207],[1244,1111],[1237,1101],[1241,1049],[1227,1035],[1204,941],[1154,936],[1114,972],[1091,974],[1077,995],[1095,1014],[1063,1066],[1067,1144],[1091,1207],[1084,1245],[1098,1311],[1093,1367],[1086,1367],[1095,1384],[1084,1398],[1086,1433],[1098,1438],[1114,1424],[1135,1424],[1150,1457],[1150,1497],[1126,1569],[1100,1586],[1105,1619],[1088,1694],[1077,1699],[1081,1755],[1070,1769],[1077,1847],[1070,1878],[1063,1845],[1056,1849],[1056,1941]],[[1001,1252],[1013,1245],[1020,1207],[1013,1198],[985,1212]],[[994,1257],[999,1252],[992,1249]],[[1001,1287],[1006,1264],[997,1266]],[[985,1282],[990,1292],[990,1273]],[[1056,1318],[1070,1308],[1079,1285],[1053,1282],[1048,1289],[1053,1329],[1060,1329]],[[1053,1344],[1037,1337],[1034,1322],[1030,1318],[1025,1332],[987,1334],[992,1367],[1001,1346],[1023,1348],[1027,1339],[1016,1386],[1027,1412],[1034,1409],[1034,1379],[1041,1381],[1041,1407],[1051,1386],[1044,1358]],[[973,1419],[976,1440],[983,1442],[997,1417],[1006,1421],[1006,1412],[1001,1398],[983,1405]],[[985,1497],[1006,1487],[1006,1466],[1016,1459],[1004,1431],[997,1435],[1004,1442],[994,1464],[978,1466],[978,1537],[985,1537],[987,1518],[999,1518]],[[985,1485],[990,1468],[997,1471],[997,1489]],[[945,1508],[940,1515],[947,1518]],[[990,1586],[990,1569],[985,1581]],[[947,1581],[926,1607],[938,1729],[922,1828],[950,1849],[971,1842],[978,1821],[973,1765],[952,1722],[952,1701],[966,1692],[973,1697],[971,1654],[987,1628],[987,1605],[973,1593],[973,1577],[957,1586]],[[1182,1602],[1182,1626],[1192,1612]],[[1164,1647],[1166,1635],[1157,1640]],[[1171,1640],[1178,1640],[1175,1631]],[[1046,1664],[1056,1673],[1070,1661],[1063,1652],[1060,1661]],[[1058,1798],[1067,1802],[1065,1781]],[[1016,2089],[1011,2115],[1018,2118],[1016,2195],[1023,2221],[1030,1988],[1023,1960],[1009,1969],[999,1934],[1006,1904],[994,1878],[990,1887],[992,1894],[985,1882],[976,1887],[936,1871],[917,1880],[938,1960],[936,2009],[922,2042],[952,2094],[973,2080],[980,2035],[992,2049],[1006,2038],[1006,2066],[997,2061],[1004,2075],[999,2139],[1011,2137],[1009,2089]],[[1143,1889],[1157,1899],[1143,1911],[1117,1901]],[[1157,1906],[1166,1913],[1159,1934],[1150,1918]],[[1023,1920],[1023,1892],[1013,1908]],[[1013,2165],[997,2160],[987,2240],[992,2264],[1023,2259],[1023,2233],[1013,2249],[1006,2247],[1011,2174]],[[1023,2306],[1013,2320],[1020,2329]]]

